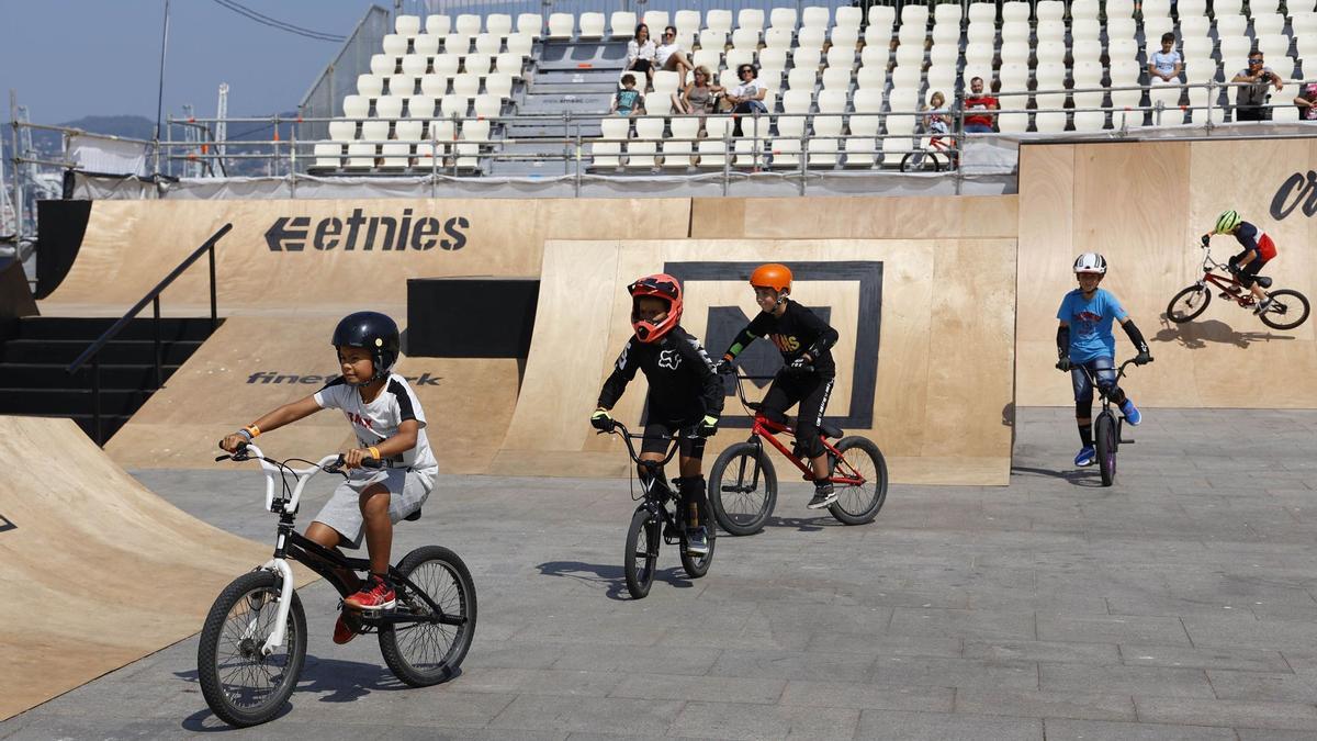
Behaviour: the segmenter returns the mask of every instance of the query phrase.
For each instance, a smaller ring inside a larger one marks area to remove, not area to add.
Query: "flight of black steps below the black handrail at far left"
[[[0,335],[0,414],[68,417],[94,434],[92,373],[87,365],[70,376],[65,368],[116,318],[25,316]],[[133,319],[100,351],[101,440],[109,439],[155,390],[155,336],[161,372],[173,376],[211,336],[211,320],[170,318],[159,326]]]

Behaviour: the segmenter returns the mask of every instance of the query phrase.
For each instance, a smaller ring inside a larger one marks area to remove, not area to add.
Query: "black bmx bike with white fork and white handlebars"
[[[302,563],[325,579],[340,597],[352,595],[344,571],[370,571],[370,562],[346,558],[294,529],[298,502],[308,480],[320,472],[342,472],[342,456],[319,463],[274,460],[255,446],[216,460],[255,460],[266,477],[265,508],[279,516],[274,556],[234,579],[220,592],[202,628],[196,668],[211,711],[230,725],[248,726],[274,719],[298,684],[307,655],[307,617],[294,589],[292,567]],[[307,463],[295,469],[290,463]],[[367,468],[378,468],[374,459]],[[275,476],[282,483],[277,494]],[[419,519],[420,512],[408,519]],[[450,679],[475,634],[475,584],[462,559],[441,546],[423,546],[389,567],[398,593],[391,610],[362,610],[350,620],[360,633],[377,633],[390,671],[411,687]],[[345,618],[348,613],[345,613]]]

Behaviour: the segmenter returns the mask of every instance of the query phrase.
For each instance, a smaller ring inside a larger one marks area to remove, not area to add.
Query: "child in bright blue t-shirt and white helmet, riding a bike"
[[[1130,341],[1139,353],[1137,365],[1152,361],[1143,332],[1134,326],[1130,315],[1108,290],[1097,287],[1106,276],[1106,258],[1096,252],[1085,252],[1075,260],[1075,277],[1079,289],[1065,294],[1056,310],[1060,327],[1056,330],[1056,368],[1071,372],[1075,385],[1075,419],[1079,423],[1079,439],[1083,447],[1075,456],[1075,465],[1092,465],[1097,458],[1093,450],[1093,384],[1089,382],[1088,368],[1097,377],[1097,385],[1121,407],[1125,421],[1138,425],[1143,421],[1134,402],[1115,385],[1115,338],[1112,336],[1112,322],[1118,320]]]

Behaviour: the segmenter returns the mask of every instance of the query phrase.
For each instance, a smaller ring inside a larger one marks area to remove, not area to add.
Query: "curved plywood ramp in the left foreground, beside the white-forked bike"
[[[0,720],[195,634],[273,551],[142,488],[68,419],[0,417]]]

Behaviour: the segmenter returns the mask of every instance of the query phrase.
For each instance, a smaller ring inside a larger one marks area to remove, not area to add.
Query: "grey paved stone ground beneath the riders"
[[[1009,488],[893,487],[877,522],[844,527],[793,485],[763,534],[718,541],[707,578],[664,551],[641,601],[622,576],[624,483],[445,479],[396,550],[439,542],[470,564],[479,626],[464,672],[400,687],[371,637],[329,641],[335,597],[315,584],[290,709],[240,733],[1317,737],[1317,413],[1146,417],[1109,489],[1071,469],[1073,422],[1050,409],[1019,414]],[[255,473],[140,477],[270,539]],[[195,655],[194,637],[0,737],[219,730]]]

